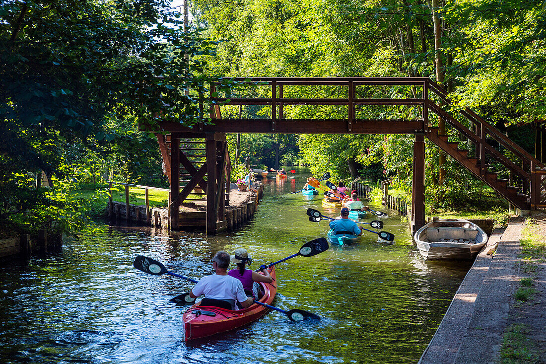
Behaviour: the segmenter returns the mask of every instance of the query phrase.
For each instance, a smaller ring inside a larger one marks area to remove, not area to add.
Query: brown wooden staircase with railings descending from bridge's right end
[[[429,83],[429,90],[445,106],[450,106],[446,90],[433,81]],[[473,144],[475,148],[465,149],[464,145],[461,148],[460,142],[450,141],[449,135],[439,134],[438,127],[425,126],[425,136],[432,143],[453,157],[461,166],[472,172],[513,206],[522,210],[546,207],[546,193],[544,192],[546,190],[544,186],[546,184],[546,168],[541,162],[471,110],[460,110],[458,116],[459,118],[462,116],[462,121],[459,121],[430,98],[428,108],[451,125],[455,132],[467,138],[469,144]],[[472,128],[465,125],[468,121],[470,121]],[[494,148],[491,142],[498,146]],[[509,159],[497,148],[511,152],[513,158]],[[517,162],[513,160],[517,160]],[[509,179],[498,178],[497,172],[488,170],[489,163],[493,161],[500,162],[508,170]]]

